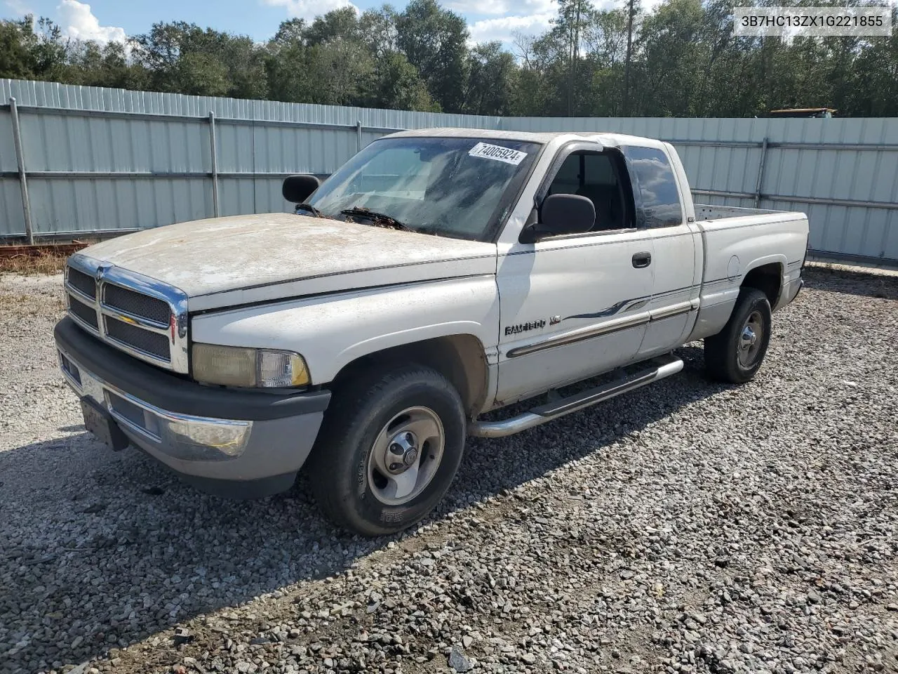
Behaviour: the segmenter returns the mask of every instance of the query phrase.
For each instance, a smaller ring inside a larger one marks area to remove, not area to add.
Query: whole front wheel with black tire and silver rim
[[[339,527],[401,531],[443,498],[464,439],[462,399],[436,370],[370,372],[334,395],[310,457],[313,494]]]

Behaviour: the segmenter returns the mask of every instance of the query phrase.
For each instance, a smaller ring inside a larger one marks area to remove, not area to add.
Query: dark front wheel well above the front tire
[[[486,403],[487,358],[483,344],[470,334],[414,341],[366,354],[345,365],[334,377],[332,386],[339,388],[371,368],[409,363],[434,368],[452,382],[469,415],[479,412]]]

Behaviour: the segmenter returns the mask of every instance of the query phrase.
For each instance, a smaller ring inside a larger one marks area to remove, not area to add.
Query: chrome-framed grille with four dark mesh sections
[[[155,279],[75,253],[66,266],[68,314],[135,358],[186,374],[187,296]]]

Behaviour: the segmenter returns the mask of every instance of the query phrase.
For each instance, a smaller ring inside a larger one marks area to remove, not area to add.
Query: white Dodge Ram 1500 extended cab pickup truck
[[[113,448],[242,498],[305,466],[322,510],[365,535],[424,518],[467,434],[674,375],[687,342],[712,377],[751,379],[803,283],[804,214],[693,205],[674,148],[648,138],[407,131],[283,189],[295,213],[73,255],[59,363]]]

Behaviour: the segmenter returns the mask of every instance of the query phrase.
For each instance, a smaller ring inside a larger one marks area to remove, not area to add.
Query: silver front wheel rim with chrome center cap
[[[368,488],[385,505],[405,505],[427,489],[439,469],[445,431],[429,407],[394,414],[368,453]]]

